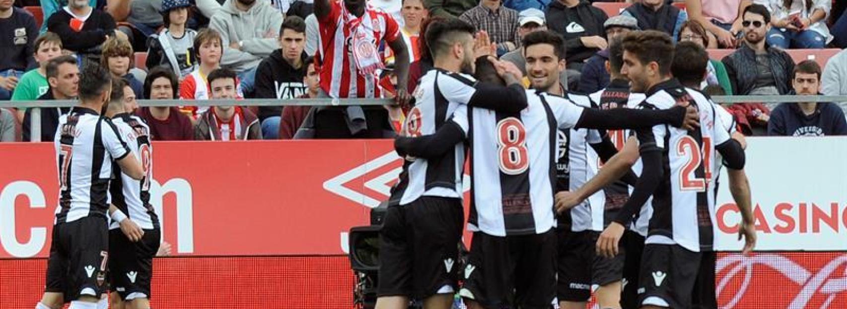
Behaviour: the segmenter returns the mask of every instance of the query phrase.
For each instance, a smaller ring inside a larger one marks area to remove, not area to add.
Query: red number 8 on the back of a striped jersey
[[[497,123],[500,170],[504,174],[522,174],[529,168],[527,130],[520,120],[509,117]]]

